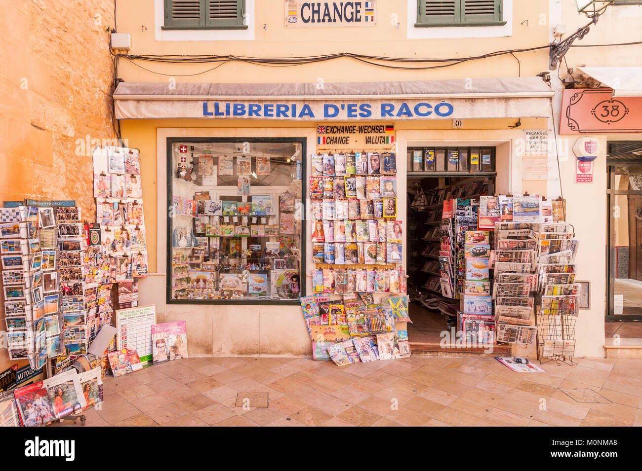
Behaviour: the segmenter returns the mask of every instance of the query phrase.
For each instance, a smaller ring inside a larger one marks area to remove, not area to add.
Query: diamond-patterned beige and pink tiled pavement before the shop
[[[516,373],[478,356],[342,368],[309,358],[187,358],[107,377],[103,408],[85,415],[87,426],[642,426],[642,360],[543,368]],[[236,407],[238,392],[268,392],[269,407]]]

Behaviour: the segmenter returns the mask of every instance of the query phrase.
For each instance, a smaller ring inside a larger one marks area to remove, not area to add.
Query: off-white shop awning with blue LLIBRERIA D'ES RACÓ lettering
[[[116,119],[408,120],[548,117],[539,77],[345,83],[121,82]]]

